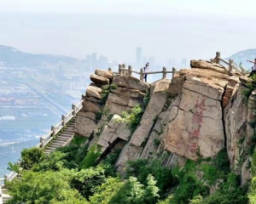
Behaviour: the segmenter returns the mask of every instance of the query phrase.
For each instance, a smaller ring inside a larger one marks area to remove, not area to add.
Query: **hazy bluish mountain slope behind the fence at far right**
[[[253,64],[247,62],[247,60],[254,61],[255,58],[256,58],[256,48],[242,50],[236,54],[232,54],[227,59],[234,59],[237,65],[239,65],[239,63],[241,62],[243,67],[245,67],[247,70],[251,70],[251,67],[253,66]]]

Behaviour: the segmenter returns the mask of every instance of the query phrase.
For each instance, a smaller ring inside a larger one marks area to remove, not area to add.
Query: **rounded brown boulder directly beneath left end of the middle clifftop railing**
[[[149,88],[148,83],[128,75],[115,75],[113,83],[117,84],[120,88],[136,89],[141,92],[146,92]]]

